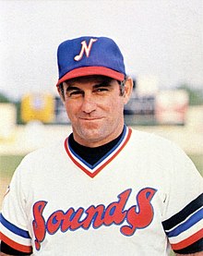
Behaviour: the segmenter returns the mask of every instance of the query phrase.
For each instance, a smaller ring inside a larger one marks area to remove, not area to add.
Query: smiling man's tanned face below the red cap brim
[[[120,135],[124,127],[125,96],[119,83],[102,76],[71,79],[63,83],[66,113],[74,139],[88,146],[101,146]]]

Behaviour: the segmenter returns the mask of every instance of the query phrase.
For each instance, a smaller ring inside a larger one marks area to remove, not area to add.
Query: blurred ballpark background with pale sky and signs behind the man
[[[22,157],[66,138],[56,50],[108,36],[134,79],[127,125],[173,140],[203,174],[203,1],[0,1],[0,206]]]

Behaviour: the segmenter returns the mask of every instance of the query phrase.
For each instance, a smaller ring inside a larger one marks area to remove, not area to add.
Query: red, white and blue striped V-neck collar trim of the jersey
[[[124,134],[121,137],[121,139],[116,143],[116,145],[113,147],[113,149],[109,152],[107,152],[97,163],[94,165],[90,165],[87,163],[84,159],[78,156],[76,152],[70,147],[68,143],[68,138],[65,140],[65,149],[72,160],[72,162],[77,165],[83,172],[85,172],[90,177],[95,177],[97,174],[99,174],[102,169],[108,165],[110,162],[113,161],[113,159],[116,157],[116,155],[123,150],[125,147],[127,141],[130,139],[132,133],[131,128],[127,128],[125,126]]]

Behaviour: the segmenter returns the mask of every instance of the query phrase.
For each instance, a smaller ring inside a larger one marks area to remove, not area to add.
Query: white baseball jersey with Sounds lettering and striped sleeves
[[[173,142],[125,127],[95,165],[68,140],[18,166],[1,238],[32,255],[169,255],[202,238],[202,177]]]

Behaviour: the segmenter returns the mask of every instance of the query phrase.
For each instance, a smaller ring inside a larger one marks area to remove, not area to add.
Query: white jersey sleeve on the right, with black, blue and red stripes
[[[170,192],[162,226],[174,252],[203,251],[203,178],[181,149],[173,149]]]

